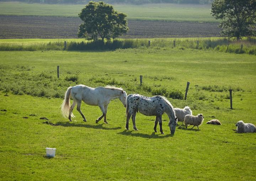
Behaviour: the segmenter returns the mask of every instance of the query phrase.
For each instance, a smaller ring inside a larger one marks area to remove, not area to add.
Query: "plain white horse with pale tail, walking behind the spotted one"
[[[73,98],[73,104],[70,107],[69,97],[70,95]],[[77,104],[77,110],[81,114],[82,118],[86,122],[84,114],[81,112],[81,102],[84,101],[86,104],[91,106],[98,106],[102,111],[102,115],[98,117],[96,123],[100,121],[104,117],[104,122],[108,123],[106,120],[107,108],[110,101],[114,98],[119,98],[119,100],[123,103],[124,107],[126,107],[126,91],[121,88],[106,86],[106,87],[88,87],[85,85],[76,85],[73,87],[69,87],[65,93],[65,98],[61,106],[62,115],[64,117],[68,117],[69,121],[71,117],[74,118],[74,114],[72,113],[75,105]]]

